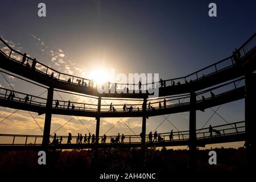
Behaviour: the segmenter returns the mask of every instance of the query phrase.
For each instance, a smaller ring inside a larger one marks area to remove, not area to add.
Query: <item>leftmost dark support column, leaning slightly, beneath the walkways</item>
[[[47,102],[46,102],[46,117],[44,119],[44,134],[43,134],[43,146],[48,146],[49,137],[51,131],[51,120],[52,120],[52,100],[53,100],[53,88],[48,88]]]

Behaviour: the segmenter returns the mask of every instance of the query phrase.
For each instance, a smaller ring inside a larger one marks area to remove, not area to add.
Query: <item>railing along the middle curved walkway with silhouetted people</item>
[[[213,88],[203,90],[200,92],[196,93],[197,96],[197,102],[202,102],[202,101],[207,101],[213,98],[213,96],[210,94],[211,92],[215,93],[214,97],[221,96],[223,94],[228,94],[230,92],[233,92],[233,90],[236,90],[238,88],[238,85],[244,82],[244,78],[239,78],[234,81],[227,82],[222,85],[215,86]],[[239,87],[240,88],[240,87]],[[14,94],[14,98],[11,96],[11,92]],[[204,96],[204,100],[201,98]],[[27,97],[27,101],[26,101]],[[22,93],[22,92],[16,92],[10,89],[6,88],[0,88],[0,98],[3,100],[9,100],[9,102],[22,102],[24,104],[29,104],[29,105],[36,105],[36,106],[46,106],[47,99],[42,98],[42,97],[37,97],[37,96],[32,96],[30,94]],[[181,95],[181,96],[171,96],[171,97],[164,97],[160,98],[158,100],[148,100],[147,102],[147,111],[153,111],[153,110],[160,110],[160,109],[168,109],[170,107],[175,107],[175,106],[184,106],[184,105],[189,105],[189,94],[186,95]],[[103,98],[103,100],[108,100],[108,98]],[[164,106],[164,100],[166,100],[166,106]],[[115,101],[119,101],[118,99]],[[129,100],[126,100],[127,102]],[[133,100],[136,101],[136,100]],[[133,102],[131,101],[131,102]],[[141,101],[141,100],[138,100]],[[138,112],[142,111],[142,104],[137,103],[137,104],[132,104],[132,103],[126,103],[126,109],[123,111],[124,104],[113,104],[111,112]],[[150,102],[151,108],[148,108]],[[161,104],[161,106],[160,106]],[[73,105],[73,107],[72,107]],[[81,103],[81,102],[68,102],[68,101],[60,101],[60,100],[53,100],[53,108],[55,109],[69,109],[69,110],[79,110],[79,111],[94,111],[97,112],[97,104],[92,104],[92,103]],[[133,107],[133,109],[130,109]],[[101,112],[110,112],[110,105],[109,104],[102,104],[101,105]]]

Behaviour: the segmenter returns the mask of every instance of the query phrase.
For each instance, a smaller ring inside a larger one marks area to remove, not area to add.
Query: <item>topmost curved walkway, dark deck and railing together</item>
[[[159,97],[195,92],[244,76],[256,69],[256,34],[254,34],[232,56],[187,76],[143,84],[141,90],[138,89],[138,84],[109,83],[105,85],[105,89],[107,88],[109,92],[112,90],[113,93],[99,93],[92,80],[60,73],[16,51],[3,39],[0,40],[0,47],[5,47],[0,50],[0,68],[52,88],[96,97],[147,98],[150,88],[159,88]],[[126,88],[133,93],[126,93]]]

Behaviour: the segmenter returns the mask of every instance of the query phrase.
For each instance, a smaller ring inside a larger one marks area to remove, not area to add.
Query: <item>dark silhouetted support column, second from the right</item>
[[[196,168],[196,94],[190,93],[189,110],[189,169]]]

